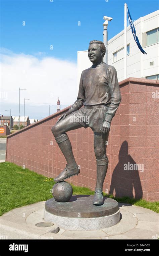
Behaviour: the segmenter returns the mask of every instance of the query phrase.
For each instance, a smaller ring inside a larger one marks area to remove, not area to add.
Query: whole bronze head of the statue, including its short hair
[[[103,60],[106,48],[102,41],[92,40],[88,48],[88,57],[91,62],[96,63]]]

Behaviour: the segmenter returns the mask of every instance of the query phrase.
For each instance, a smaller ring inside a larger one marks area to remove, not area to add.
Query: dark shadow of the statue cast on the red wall
[[[142,174],[144,169],[142,163],[138,164],[128,154],[128,143],[124,141],[119,151],[119,162],[112,173],[109,194],[115,194],[116,197],[143,198],[140,173]]]

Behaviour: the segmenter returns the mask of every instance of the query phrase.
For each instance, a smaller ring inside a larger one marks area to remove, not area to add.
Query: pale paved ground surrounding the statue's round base
[[[119,203],[118,224],[96,231],[68,231],[57,225],[37,227],[43,221],[45,202],[20,207],[0,217],[0,236],[6,239],[157,239],[159,214],[146,208]],[[56,234],[52,233],[55,232]]]

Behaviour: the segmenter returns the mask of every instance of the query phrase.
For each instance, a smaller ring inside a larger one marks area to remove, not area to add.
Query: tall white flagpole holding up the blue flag
[[[127,78],[127,4],[124,4],[124,79]]]

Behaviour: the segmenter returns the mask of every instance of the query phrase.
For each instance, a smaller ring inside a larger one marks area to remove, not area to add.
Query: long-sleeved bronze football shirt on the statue
[[[102,63],[85,69],[81,74],[75,110],[84,106],[110,104],[105,120],[111,122],[121,101],[117,72],[113,66]]]

